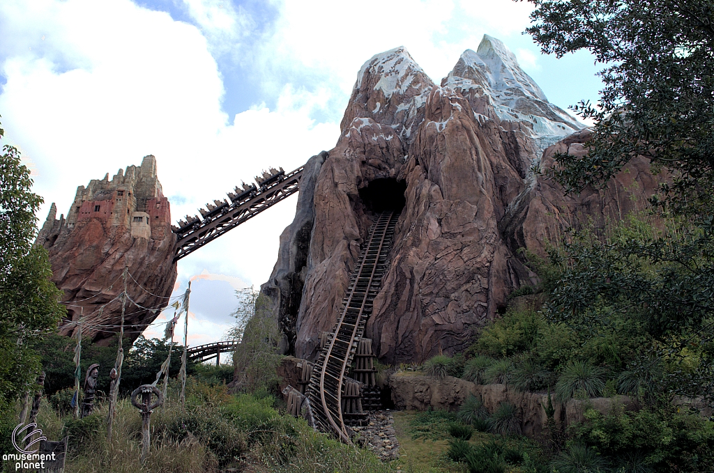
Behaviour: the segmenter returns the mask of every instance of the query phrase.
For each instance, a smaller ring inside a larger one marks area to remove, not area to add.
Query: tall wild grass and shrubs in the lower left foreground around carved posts
[[[280,414],[272,398],[229,395],[225,385],[187,383],[185,409],[176,392],[151,414],[151,452],[141,464],[141,415],[129,400],[116,406],[112,441],[106,405],[85,419],[60,417],[44,403],[39,425],[51,439],[70,436],[72,473],[386,473],[373,453],[315,432],[303,419]]]

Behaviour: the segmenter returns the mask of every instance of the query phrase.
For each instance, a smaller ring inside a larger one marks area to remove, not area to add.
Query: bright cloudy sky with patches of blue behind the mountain
[[[331,149],[357,71],[396,46],[439,83],[490,34],[551,102],[595,99],[593,57],[541,55],[522,34],[530,13],[511,0],[2,0],[4,144],[33,170],[41,222],[78,185],[148,154],[178,220],[263,168]],[[175,293],[194,279],[191,345],[220,340],[233,291],[268,279],[295,202],[178,263]]]

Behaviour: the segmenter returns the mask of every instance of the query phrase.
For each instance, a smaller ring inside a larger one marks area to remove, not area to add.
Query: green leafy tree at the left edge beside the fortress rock
[[[0,128],[0,138],[4,131]],[[0,156],[0,442],[14,427],[12,403],[32,388],[40,371],[31,342],[56,330],[65,314],[51,283],[47,250],[34,246],[35,213],[42,198],[31,192],[30,171],[19,151]]]

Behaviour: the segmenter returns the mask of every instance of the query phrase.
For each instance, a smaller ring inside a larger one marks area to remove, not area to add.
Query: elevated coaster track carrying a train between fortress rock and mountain
[[[205,218],[194,218],[190,223],[182,225],[181,228],[174,227],[174,233],[178,235],[176,242],[176,254],[174,263],[181,258],[190,255],[201,248],[206,243],[215,240],[219,236],[233,230],[246,220],[255,217],[263,210],[271,208],[276,203],[284,200],[299,190],[299,183],[303,177],[303,169],[300,166],[295,171],[289,173],[276,174],[265,180],[261,187],[253,186],[254,191],[248,193],[245,198],[240,195],[231,202],[220,202],[215,200],[217,207],[210,212],[206,212]]]

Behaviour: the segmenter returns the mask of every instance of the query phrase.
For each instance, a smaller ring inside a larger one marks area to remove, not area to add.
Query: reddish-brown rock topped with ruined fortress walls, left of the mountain
[[[37,236],[49,250],[52,282],[64,291],[67,319],[61,335],[82,335],[107,345],[121,322],[122,273],[129,270],[125,333],[132,342],[156,319],[176,281],[176,235],[171,232],[169,200],[156,176],[156,158],[129,166],[109,180],[93,179],[77,188],[67,218],[50,213]],[[100,307],[104,306],[103,308]]]

